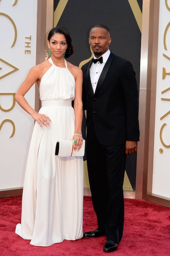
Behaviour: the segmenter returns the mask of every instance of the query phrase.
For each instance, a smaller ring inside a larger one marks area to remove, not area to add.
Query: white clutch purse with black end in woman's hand
[[[71,156],[84,156],[85,155],[85,140],[79,151],[73,150],[72,140],[60,140],[57,141],[55,148],[55,155],[59,157],[71,157]]]

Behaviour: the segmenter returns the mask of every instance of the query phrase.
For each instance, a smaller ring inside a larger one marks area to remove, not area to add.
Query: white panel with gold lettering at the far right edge
[[[152,193],[170,200],[169,169],[170,6],[168,1],[160,1]]]

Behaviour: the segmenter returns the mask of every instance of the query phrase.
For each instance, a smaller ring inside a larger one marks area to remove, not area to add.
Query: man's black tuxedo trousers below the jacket
[[[87,140],[87,169],[98,228],[119,243],[124,226],[125,145],[102,146]]]

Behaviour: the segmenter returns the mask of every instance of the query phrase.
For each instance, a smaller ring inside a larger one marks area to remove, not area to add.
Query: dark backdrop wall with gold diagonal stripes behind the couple
[[[142,0],[54,0],[54,26],[68,29],[74,45],[69,61],[76,66],[82,66],[82,61],[85,63],[92,55],[89,28],[97,23],[110,29],[110,50],[133,64],[139,88]],[[86,163],[85,187],[89,187]],[[133,154],[127,157],[124,190],[135,189],[136,154]]]

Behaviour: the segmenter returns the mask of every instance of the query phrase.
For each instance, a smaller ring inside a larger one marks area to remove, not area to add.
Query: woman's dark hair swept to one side
[[[73,51],[73,46],[72,46],[72,40],[71,40],[71,37],[69,35],[69,32],[67,31],[66,28],[64,27],[55,27],[55,28],[52,28],[51,31],[49,32],[48,34],[48,41],[50,42],[50,39],[51,37],[54,35],[54,34],[63,34],[66,38],[66,42],[67,42],[67,49],[66,49],[66,53],[65,53],[65,58],[68,58],[70,55],[72,55],[74,53]]]

